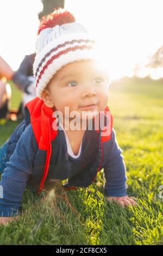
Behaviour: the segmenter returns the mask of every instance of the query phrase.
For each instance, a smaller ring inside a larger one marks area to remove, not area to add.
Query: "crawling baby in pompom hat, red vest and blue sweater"
[[[106,199],[136,206],[126,192],[126,167],[107,106],[109,77],[96,45],[68,11],[43,18],[34,62],[37,97],[0,149],[1,223],[18,217],[26,187],[41,192],[56,179],[68,180],[65,190],[88,187],[101,169]]]

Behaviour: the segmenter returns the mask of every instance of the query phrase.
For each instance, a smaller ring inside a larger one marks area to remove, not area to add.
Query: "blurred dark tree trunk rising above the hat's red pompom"
[[[39,13],[39,19],[42,16],[53,12],[53,9],[58,9],[59,7],[64,8],[65,0],[41,0],[43,4],[43,10]]]

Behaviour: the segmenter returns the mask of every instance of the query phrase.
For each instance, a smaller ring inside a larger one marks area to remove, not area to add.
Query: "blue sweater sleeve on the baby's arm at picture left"
[[[0,187],[3,196],[0,198],[0,217],[15,216],[19,213],[26,182],[33,171],[36,151],[37,144],[32,126],[28,125],[1,175]]]

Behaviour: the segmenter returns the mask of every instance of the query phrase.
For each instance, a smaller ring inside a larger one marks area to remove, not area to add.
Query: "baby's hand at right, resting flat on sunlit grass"
[[[120,204],[122,207],[124,206],[137,206],[135,200],[135,197],[129,197],[129,196],[124,196],[124,197],[106,197],[106,199],[111,202],[114,200],[116,203]]]

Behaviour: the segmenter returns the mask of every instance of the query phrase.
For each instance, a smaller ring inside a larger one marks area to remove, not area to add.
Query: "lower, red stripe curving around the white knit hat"
[[[52,56],[52,58],[47,61],[46,65],[43,66],[43,68],[40,72],[40,75],[37,78],[36,87],[37,87],[37,84],[39,83],[39,81],[41,79],[41,76],[44,74],[48,65],[51,64],[53,62],[53,60],[58,59],[61,55],[66,54],[66,53],[71,52],[71,51],[74,52],[76,50],[84,50],[84,49],[90,50],[91,48],[93,48],[93,46],[91,46],[91,45],[89,45],[89,46],[87,46],[87,45],[78,46],[77,45],[77,46],[74,46],[74,47],[69,47],[66,50],[60,51],[58,54],[55,54],[54,56]]]

